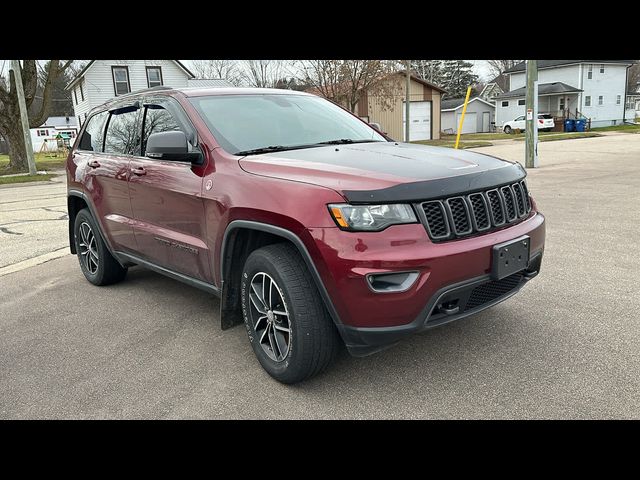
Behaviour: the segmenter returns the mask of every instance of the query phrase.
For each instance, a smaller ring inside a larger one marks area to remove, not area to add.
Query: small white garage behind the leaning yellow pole
[[[464,98],[452,98],[442,101],[441,125],[442,132],[453,134],[458,133]],[[467,111],[464,115],[461,133],[490,132],[491,122],[495,121],[496,107],[493,103],[474,97],[467,104]]]

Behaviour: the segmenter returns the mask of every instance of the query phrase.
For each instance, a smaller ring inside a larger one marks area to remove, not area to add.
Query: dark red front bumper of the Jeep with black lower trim
[[[322,256],[319,271],[339,314],[342,338],[353,355],[362,356],[517,293],[540,269],[545,225],[542,214],[532,213],[511,227],[440,244],[432,243],[420,224],[378,233],[326,228],[310,233]],[[490,278],[493,246],[522,235],[531,239],[527,270],[496,285]],[[367,284],[367,275],[399,271],[419,274],[406,291],[376,293]],[[440,308],[443,302],[458,309]]]

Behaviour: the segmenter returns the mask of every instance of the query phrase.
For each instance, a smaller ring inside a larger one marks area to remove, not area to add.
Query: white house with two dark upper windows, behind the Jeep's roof
[[[65,90],[81,126],[92,108],[113,97],[159,85],[188,87],[192,78],[178,60],[91,60]]]

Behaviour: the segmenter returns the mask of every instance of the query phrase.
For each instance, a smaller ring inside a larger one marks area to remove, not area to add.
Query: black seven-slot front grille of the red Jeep
[[[440,242],[514,224],[531,212],[531,200],[521,180],[482,192],[430,200],[420,208],[429,237]]]

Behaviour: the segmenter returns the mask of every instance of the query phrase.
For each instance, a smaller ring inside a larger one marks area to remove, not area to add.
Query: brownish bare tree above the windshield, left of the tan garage
[[[355,112],[363,92],[389,108],[398,85],[389,76],[398,63],[390,60],[312,60],[303,62],[304,81],[330,100]],[[386,81],[389,80],[389,81]]]

